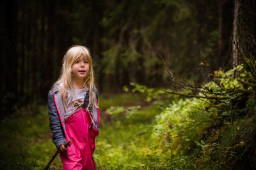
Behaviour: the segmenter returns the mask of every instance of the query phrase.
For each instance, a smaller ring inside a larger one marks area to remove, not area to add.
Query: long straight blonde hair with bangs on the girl
[[[71,94],[70,103],[71,103],[71,106],[73,107],[72,90],[75,87],[74,87],[74,76],[72,74],[72,66],[81,57],[84,57],[88,61],[90,66],[89,72],[84,78],[84,87],[86,87],[86,85],[88,86],[89,94],[90,94],[88,108],[89,106],[93,106],[95,94],[93,93],[94,76],[93,76],[93,67],[92,67],[92,57],[90,55],[88,48],[81,45],[74,45],[74,46],[70,46],[70,48],[68,48],[67,50],[67,53],[64,55],[60,78],[56,81],[56,83],[54,83],[52,87],[54,88],[56,85],[60,85],[60,83],[63,83],[64,88],[60,91],[60,95],[61,95],[61,99],[63,101],[65,110],[67,108],[67,101],[66,101],[67,90],[70,90],[70,94]]]

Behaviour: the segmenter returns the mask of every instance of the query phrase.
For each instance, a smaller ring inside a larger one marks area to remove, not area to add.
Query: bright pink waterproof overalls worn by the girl
[[[99,110],[98,123],[99,124]],[[86,109],[73,113],[65,120],[66,138],[71,140],[67,152],[61,152],[63,169],[94,170],[92,155],[95,149],[94,139],[99,131],[92,126],[92,118]]]

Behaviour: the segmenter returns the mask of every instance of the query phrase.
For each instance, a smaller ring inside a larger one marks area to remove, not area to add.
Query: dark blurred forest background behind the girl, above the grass
[[[200,83],[207,73],[233,67],[232,40],[255,36],[255,6],[231,0],[1,1],[1,113],[45,103],[71,45],[90,49],[100,92],[120,92],[131,81],[168,87],[161,57],[176,76]]]

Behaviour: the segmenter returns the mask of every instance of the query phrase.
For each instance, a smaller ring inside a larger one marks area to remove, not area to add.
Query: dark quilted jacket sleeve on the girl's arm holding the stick
[[[59,146],[66,143],[67,140],[65,138],[65,133],[60,122],[60,117],[54,103],[53,91],[50,91],[48,94],[48,114],[50,129],[52,132],[52,143],[54,143],[58,149]]]

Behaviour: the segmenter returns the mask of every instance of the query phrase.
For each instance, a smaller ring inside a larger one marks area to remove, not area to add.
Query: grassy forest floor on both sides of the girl
[[[95,139],[93,155],[99,169],[148,169],[145,153],[149,150],[150,134],[144,127],[154,121],[160,110],[143,100],[138,94],[100,96],[100,133]],[[126,109],[138,105],[140,108],[129,113],[106,113],[111,106]],[[47,106],[35,108],[20,110],[1,120],[0,169],[43,169],[56,152],[49,131]],[[62,169],[60,156],[49,169]]]

